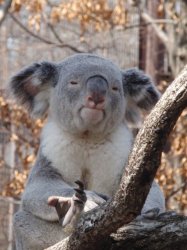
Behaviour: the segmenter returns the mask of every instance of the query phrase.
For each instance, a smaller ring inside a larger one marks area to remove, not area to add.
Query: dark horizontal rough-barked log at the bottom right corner
[[[111,235],[112,250],[184,250],[187,246],[187,217],[166,213],[156,220],[133,221]]]

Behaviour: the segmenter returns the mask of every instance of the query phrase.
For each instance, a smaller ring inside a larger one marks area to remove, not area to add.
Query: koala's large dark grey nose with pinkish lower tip
[[[87,81],[87,104],[89,106],[104,105],[107,88],[108,83],[102,76],[90,77]]]

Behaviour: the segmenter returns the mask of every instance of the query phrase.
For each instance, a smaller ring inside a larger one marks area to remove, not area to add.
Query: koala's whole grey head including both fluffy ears
[[[125,117],[133,120],[136,109],[150,109],[159,96],[141,71],[122,71],[91,54],[34,64],[12,78],[11,88],[34,115],[49,107],[50,119],[74,134],[110,132]]]

